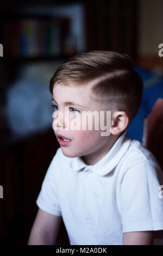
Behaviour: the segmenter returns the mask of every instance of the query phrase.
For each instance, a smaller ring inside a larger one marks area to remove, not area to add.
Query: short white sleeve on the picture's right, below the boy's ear
[[[163,230],[161,169],[147,160],[127,170],[121,183],[122,233]]]

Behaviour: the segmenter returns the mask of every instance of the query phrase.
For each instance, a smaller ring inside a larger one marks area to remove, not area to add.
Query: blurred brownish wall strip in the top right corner
[[[138,54],[158,56],[163,43],[163,1],[139,0]]]

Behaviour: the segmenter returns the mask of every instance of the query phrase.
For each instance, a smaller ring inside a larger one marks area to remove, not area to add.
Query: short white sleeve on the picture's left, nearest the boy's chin
[[[57,150],[51,164],[48,167],[45,178],[42,182],[41,191],[37,197],[36,204],[43,211],[52,215],[61,216],[59,205],[57,174],[59,173],[59,150]]]

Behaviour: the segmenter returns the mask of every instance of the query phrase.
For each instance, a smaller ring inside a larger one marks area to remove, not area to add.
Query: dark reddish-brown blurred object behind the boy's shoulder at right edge
[[[156,100],[151,113],[146,117],[142,144],[158,160],[163,172],[163,99]]]

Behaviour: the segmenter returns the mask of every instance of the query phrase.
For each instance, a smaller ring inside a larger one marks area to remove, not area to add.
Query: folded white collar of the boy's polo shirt
[[[92,172],[100,176],[108,174],[117,166],[130,145],[131,138],[125,137],[126,132],[127,130],[122,132],[109,152],[97,163],[87,165],[81,157],[73,157],[71,159],[71,168],[75,171],[82,169],[92,170]]]

